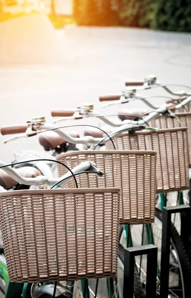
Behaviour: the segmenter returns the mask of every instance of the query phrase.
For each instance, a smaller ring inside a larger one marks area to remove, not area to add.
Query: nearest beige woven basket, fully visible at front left
[[[0,193],[11,282],[116,276],[120,189]]]

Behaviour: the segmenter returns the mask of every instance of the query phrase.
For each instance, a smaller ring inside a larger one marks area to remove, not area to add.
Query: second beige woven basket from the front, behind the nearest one
[[[56,159],[70,168],[90,160],[104,172],[103,178],[96,174],[76,176],[79,187],[120,187],[120,224],[148,224],[154,222],[156,193],[156,152],[86,150],[63,153]],[[66,168],[58,165],[59,175]],[[74,187],[70,179],[63,187]]]

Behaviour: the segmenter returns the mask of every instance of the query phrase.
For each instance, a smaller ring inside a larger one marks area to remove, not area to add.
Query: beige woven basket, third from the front
[[[158,132],[123,133],[114,140],[116,149],[154,150],[157,152],[157,192],[189,189],[187,128],[161,129]],[[111,142],[107,149],[113,149]]]

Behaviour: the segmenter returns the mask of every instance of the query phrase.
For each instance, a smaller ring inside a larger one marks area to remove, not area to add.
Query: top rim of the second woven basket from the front
[[[147,150],[78,150],[78,151],[72,151],[72,152],[66,152],[56,155],[56,160],[59,159],[62,156],[72,156],[72,155],[80,155],[80,154],[136,154],[136,155],[156,155],[156,151],[147,151]]]

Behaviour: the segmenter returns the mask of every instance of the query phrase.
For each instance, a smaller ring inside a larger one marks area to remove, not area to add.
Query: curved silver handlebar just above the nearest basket
[[[6,166],[6,164],[3,161],[0,161],[0,167]],[[18,174],[14,170],[14,168],[7,166],[2,167],[2,170],[4,170],[9,176],[11,176],[14,180],[17,182],[24,184],[24,185],[36,185],[39,187],[45,187],[47,185],[53,185],[59,182],[60,180],[64,180],[66,182],[67,180],[72,178],[72,175],[70,172],[67,172],[65,175],[59,177],[59,178],[47,178],[45,176],[37,176],[35,178],[26,178]],[[77,175],[78,173],[85,172],[87,170],[90,170],[91,172],[95,172],[97,175],[102,176],[103,172],[98,170],[95,166],[95,164],[91,161],[84,161],[81,164],[77,165],[72,169],[72,172],[74,175]]]

